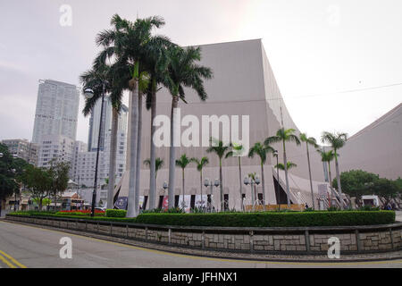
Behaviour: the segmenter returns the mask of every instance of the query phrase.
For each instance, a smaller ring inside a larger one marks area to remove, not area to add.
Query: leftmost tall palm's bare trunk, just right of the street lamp
[[[113,208],[113,190],[116,173],[116,151],[117,151],[117,128],[118,128],[118,110],[112,109],[112,134],[110,139],[109,154],[109,183],[107,185],[107,208]]]

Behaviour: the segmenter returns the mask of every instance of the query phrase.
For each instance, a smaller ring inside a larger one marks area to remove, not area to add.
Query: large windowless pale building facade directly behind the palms
[[[191,114],[197,116],[199,122],[203,115],[224,114],[229,116],[242,115],[249,116],[249,143],[250,146],[255,142],[264,142],[269,136],[275,135],[281,128],[283,120],[285,129],[293,128],[296,134],[300,131],[292,121],[286,105],[284,105],[281,92],[278,88],[273,72],[265,55],[264,46],[260,39],[203,45],[201,64],[210,67],[214,71],[214,79],[205,81],[205,88],[208,99],[201,102],[193,90],[186,89],[186,100],[188,104],[180,102],[181,118]],[[172,106],[172,96],[163,88],[157,93],[157,114],[170,116]],[[313,108],[310,111],[314,112]],[[241,121],[241,120],[240,120]],[[241,122],[239,122],[241,126]],[[129,127],[130,128],[130,127]],[[200,128],[201,129],[201,128]],[[150,156],[150,111],[143,106],[143,134],[142,134],[142,158],[141,161]],[[181,132],[186,130],[181,127]],[[239,132],[241,136],[241,131]],[[129,131],[130,134],[130,131]],[[199,138],[202,138],[200,131]],[[130,144],[129,144],[130,145]],[[275,147],[279,151],[279,160],[283,162],[281,144]],[[306,146],[297,147],[294,143],[287,143],[288,161],[297,164],[297,168],[289,172],[290,199],[293,203],[307,203],[312,205],[310,187],[308,181],[308,168],[306,158]],[[182,154],[188,157],[207,156],[210,164],[205,167],[204,178],[218,179],[219,164],[218,157],[214,154],[205,152],[206,147],[177,147],[176,158]],[[324,176],[322,171],[321,157],[314,150],[310,150],[310,160],[312,163],[312,175],[314,180],[314,194],[317,196],[317,185],[323,183]],[[164,167],[158,172],[156,181],[156,206],[158,196],[163,196],[163,181],[168,181],[168,162],[169,147],[157,147],[156,156],[164,160]],[[249,172],[256,172],[261,177],[261,167],[256,156],[253,159],[247,156],[241,158],[243,179]],[[267,204],[276,204],[277,198],[274,191],[274,171],[272,165],[276,164],[276,159],[272,155],[268,156],[264,165],[265,178],[265,198]],[[129,178],[128,173],[121,180],[121,186],[117,186],[115,191],[120,190],[119,197],[128,197]],[[229,196],[229,207],[240,208],[239,194],[239,167],[237,158],[224,159],[222,161],[222,182],[223,193]],[[285,189],[284,176],[280,172],[281,186]],[[189,164],[185,171],[185,194],[200,194],[200,177],[194,164]],[[175,195],[180,195],[181,190],[181,170],[176,168],[175,175]],[[243,193],[246,194],[247,204],[251,204],[250,187],[243,185]],[[210,189],[203,189],[203,194],[210,193]],[[149,170],[146,166],[141,169],[140,196],[148,196],[149,192]],[[257,192],[262,192],[261,185]],[[167,191],[164,192],[167,195]],[[214,205],[219,208],[219,189],[214,188]],[[316,200],[315,200],[316,202]]]

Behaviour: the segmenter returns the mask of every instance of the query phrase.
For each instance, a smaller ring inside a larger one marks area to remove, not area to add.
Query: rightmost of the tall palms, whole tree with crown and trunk
[[[170,46],[168,51],[170,56],[170,63],[168,65],[169,78],[165,80],[164,85],[169,89],[172,95],[168,191],[169,207],[172,207],[174,199],[175,146],[180,143],[176,142],[174,139],[177,125],[180,124],[180,122],[177,122],[176,118],[179,99],[186,102],[184,88],[193,88],[196,90],[198,97],[204,101],[207,97],[204,88],[204,79],[211,79],[212,71],[209,68],[197,64],[197,62],[201,60],[201,49],[199,47],[187,47],[183,49],[179,46]]]

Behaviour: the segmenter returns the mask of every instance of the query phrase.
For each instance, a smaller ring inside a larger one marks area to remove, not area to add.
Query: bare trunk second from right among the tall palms
[[[155,80],[154,80],[155,81]],[[155,208],[155,185],[156,185],[156,175],[155,175],[155,144],[154,144],[154,134],[155,134],[155,116],[156,116],[156,92],[155,92],[155,82],[152,83],[152,98],[151,98],[151,164],[149,165],[149,209]]]

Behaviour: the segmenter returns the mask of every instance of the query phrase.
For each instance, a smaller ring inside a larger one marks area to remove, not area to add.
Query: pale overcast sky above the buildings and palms
[[[353,135],[402,101],[400,0],[0,0],[0,139],[32,138],[38,80],[78,85],[114,13],[160,15],[181,46],[262,38],[289,113],[316,138]]]

